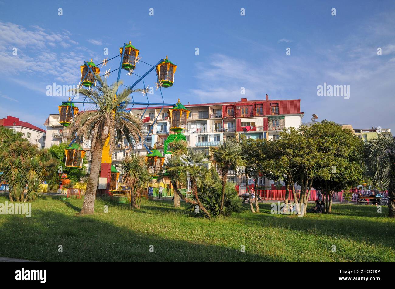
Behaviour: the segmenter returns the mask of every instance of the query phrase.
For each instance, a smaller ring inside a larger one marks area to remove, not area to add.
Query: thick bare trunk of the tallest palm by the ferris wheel
[[[100,166],[102,164],[103,147],[99,140],[92,153],[92,162],[90,165],[90,173],[88,177],[87,190],[85,192],[84,203],[82,205],[81,214],[93,214],[95,209],[96,189],[98,186],[98,179],[100,173]]]

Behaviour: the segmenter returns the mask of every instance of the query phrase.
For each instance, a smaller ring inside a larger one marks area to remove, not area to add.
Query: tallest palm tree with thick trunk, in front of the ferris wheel
[[[126,88],[117,93],[122,82],[108,86],[107,82],[103,81],[99,75],[95,75],[95,78],[97,85],[92,89],[74,90],[76,94],[87,96],[98,108],[94,111],[77,114],[71,127],[71,133],[77,134],[79,141],[82,141],[83,138],[92,141],[92,162],[81,210],[82,214],[94,213],[96,188],[105,141],[109,141],[109,151],[112,153],[116,142],[120,142],[123,136],[130,144],[133,142],[132,138],[135,143],[141,138],[141,121],[136,116],[118,109],[122,102],[128,103],[130,100],[128,96],[135,90]],[[115,135],[117,141],[115,141]]]

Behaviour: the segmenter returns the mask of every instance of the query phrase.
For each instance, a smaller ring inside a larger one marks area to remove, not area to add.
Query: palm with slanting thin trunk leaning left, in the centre
[[[208,163],[205,152],[194,151],[193,149],[189,148],[188,153],[175,162],[177,165],[174,167],[169,167],[167,171],[169,173],[179,173],[182,179],[189,177],[192,193],[195,196],[195,200],[199,206],[199,209],[201,209],[209,218],[211,218],[210,213],[202,205],[198,196],[198,187],[202,187],[203,184],[209,184],[211,182],[209,170],[204,166]],[[190,200],[190,202],[193,202],[193,200]]]

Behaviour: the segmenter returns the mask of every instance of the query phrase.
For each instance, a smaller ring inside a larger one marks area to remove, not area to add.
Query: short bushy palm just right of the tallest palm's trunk
[[[141,190],[147,188],[151,177],[145,167],[144,157],[131,155],[121,162],[121,175],[124,184],[131,188],[130,208],[140,208]]]

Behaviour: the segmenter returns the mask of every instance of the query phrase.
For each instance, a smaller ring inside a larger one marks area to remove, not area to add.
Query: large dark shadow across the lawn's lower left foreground
[[[0,256],[36,261],[275,261],[233,248],[136,232],[98,218],[42,210],[31,218],[8,215],[0,227]],[[59,245],[63,252],[58,252]]]

